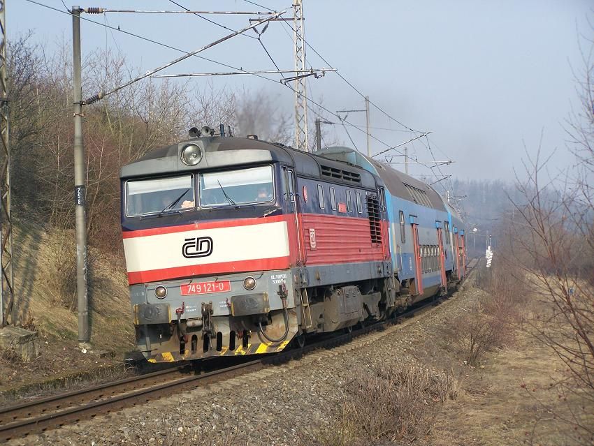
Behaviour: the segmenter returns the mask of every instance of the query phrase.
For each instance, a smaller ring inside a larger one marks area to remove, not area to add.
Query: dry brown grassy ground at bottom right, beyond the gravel
[[[535,320],[538,304],[522,315]],[[505,348],[489,352],[480,366],[465,366],[458,398],[448,401],[431,435],[435,446],[594,445],[574,420],[594,431],[594,408],[559,382],[567,369],[526,323],[514,324]],[[444,358],[451,355],[446,347]],[[454,364],[454,366],[460,364]]]

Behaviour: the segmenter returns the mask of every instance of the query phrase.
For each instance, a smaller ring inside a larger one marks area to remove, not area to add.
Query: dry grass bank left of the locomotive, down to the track
[[[113,352],[116,359],[84,354],[78,348],[77,314],[71,311],[75,281],[73,232],[43,230],[22,222],[17,222],[14,230],[19,240],[14,246],[15,322],[38,332],[41,356],[19,367],[0,359],[0,390],[6,392],[23,385],[45,389],[50,378],[64,377],[67,381],[67,376],[80,376],[80,372],[89,370],[101,374],[101,368],[121,362],[134,345],[125,269],[91,250],[95,259],[89,290],[91,342],[94,350]],[[59,386],[59,382],[51,385]]]

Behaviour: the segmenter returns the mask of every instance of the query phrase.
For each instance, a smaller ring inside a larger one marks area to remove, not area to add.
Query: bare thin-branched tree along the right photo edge
[[[594,43],[590,42],[594,48]],[[581,109],[570,118],[570,152],[578,163],[563,174],[547,171],[541,151],[525,163],[514,201],[507,253],[516,280],[526,282],[545,313],[528,321],[530,333],[566,366],[557,385],[576,401],[560,415],[587,441],[594,439],[594,59],[584,56]],[[505,251],[505,249],[504,249]],[[589,440],[588,440],[589,439]]]

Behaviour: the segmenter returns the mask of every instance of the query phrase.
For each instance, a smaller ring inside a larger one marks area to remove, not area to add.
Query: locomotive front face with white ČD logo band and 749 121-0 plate
[[[276,352],[291,341],[290,163],[273,144],[203,137],[122,168],[126,269],[147,359]]]

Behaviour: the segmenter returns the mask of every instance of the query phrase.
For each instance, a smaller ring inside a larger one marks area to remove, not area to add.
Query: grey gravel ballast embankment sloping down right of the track
[[[439,344],[447,342],[443,328],[478,294],[471,277],[448,302],[384,332],[76,426],[11,440],[8,445],[308,443],[331,423],[345,386],[357,373],[403,356],[439,364]]]

